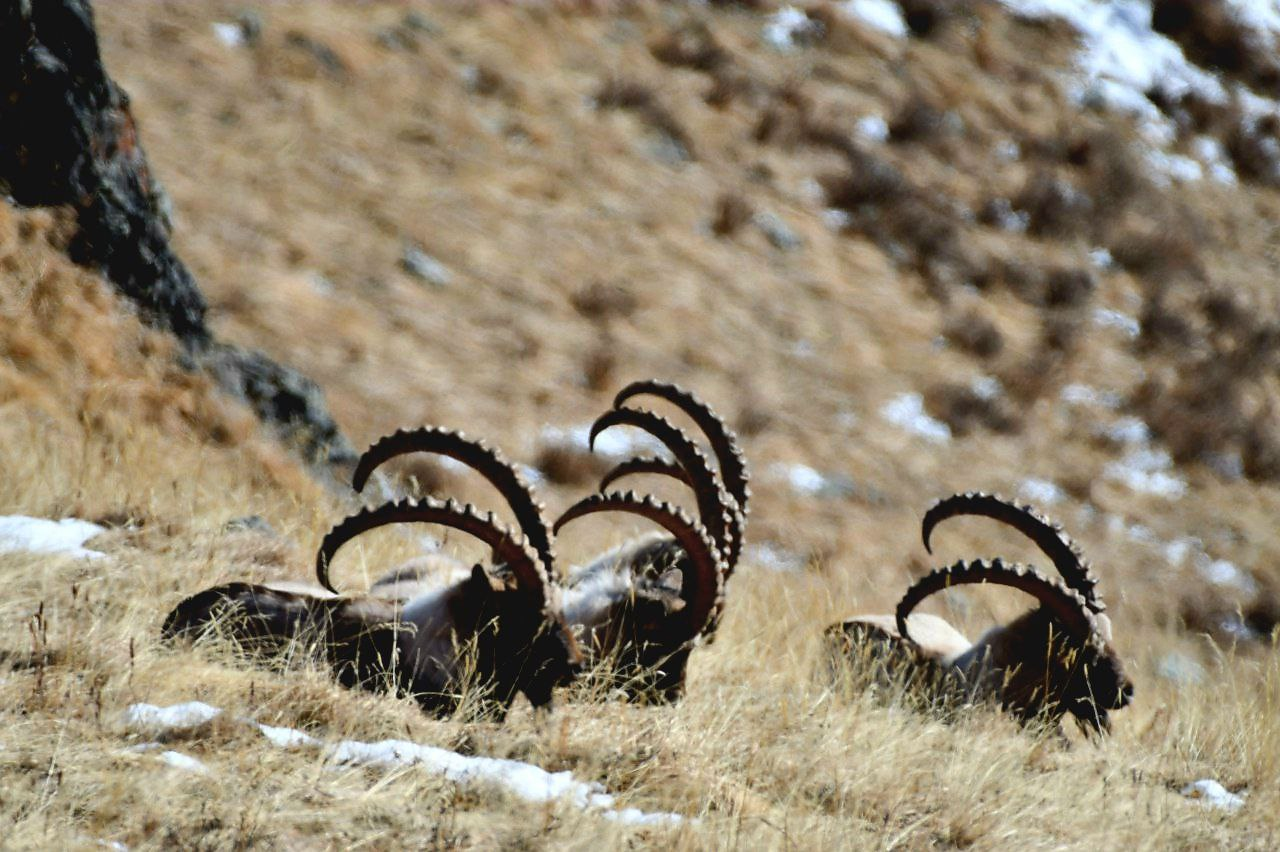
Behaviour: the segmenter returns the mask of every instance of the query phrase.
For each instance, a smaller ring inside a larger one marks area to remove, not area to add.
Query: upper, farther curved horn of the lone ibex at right
[[[929,537],[933,527],[954,518],[957,514],[977,514],[993,518],[1006,523],[1036,542],[1036,546],[1052,560],[1062,581],[1075,591],[1084,595],[1089,609],[1096,613],[1106,610],[1102,596],[1098,594],[1098,578],[1089,569],[1088,560],[1080,548],[1066,535],[1062,528],[1046,518],[1029,505],[1018,505],[1012,500],[1006,500],[998,494],[982,494],[970,491],[956,494],[943,500],[938,500],[924,513],[920,525],[920,535],[924,540],[924,549],[933,553],[929,546]]]

